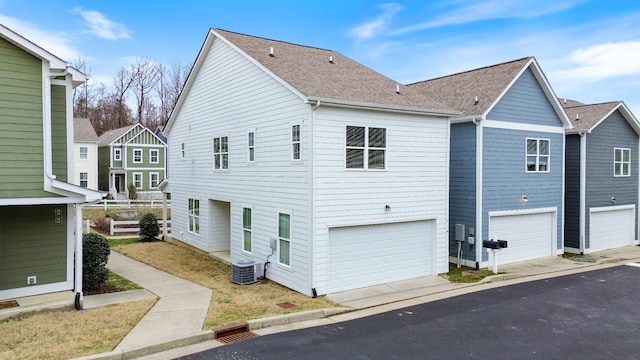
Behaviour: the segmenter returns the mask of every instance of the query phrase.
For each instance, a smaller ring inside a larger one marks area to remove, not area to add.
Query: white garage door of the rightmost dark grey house
[[[589,214],[589,252],[633,245],[635,207],[591,208]]]

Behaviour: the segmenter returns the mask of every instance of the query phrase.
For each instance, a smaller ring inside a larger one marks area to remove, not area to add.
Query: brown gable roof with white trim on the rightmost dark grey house
[[[614,111],[619,110],[629,125],[640,135],[640,123],[631,113],[631,110],[622,101],[610,101],[599,104],[583,104],[575,100],[561,102],[567,117],[571,120],[574,129],[568,133],[591,132],[600,123],[606,120]]]

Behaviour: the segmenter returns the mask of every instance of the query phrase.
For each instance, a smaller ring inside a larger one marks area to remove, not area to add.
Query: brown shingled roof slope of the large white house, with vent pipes
[[[309,100],[457,113],[340,53],[213,29]],[[273,56],[270,49],[273,48]],[[400,93],[396,86],[400,86]]]

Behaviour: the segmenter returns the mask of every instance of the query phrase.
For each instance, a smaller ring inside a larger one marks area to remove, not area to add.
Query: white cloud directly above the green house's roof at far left
[[[83,57],[71,45],[73,40],[66,33],[42,30],[30,22],[2,14],[0,14],[0,23],[63,60],[72,61]]]

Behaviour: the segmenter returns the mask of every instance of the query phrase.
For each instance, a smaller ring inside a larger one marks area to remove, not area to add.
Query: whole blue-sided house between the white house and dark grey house
[[[508,241],[501,264],[564,252],[565,129],[533,57],[411,87],[462,112],[452,120],[450,261],[486,267],[482,240]]]

